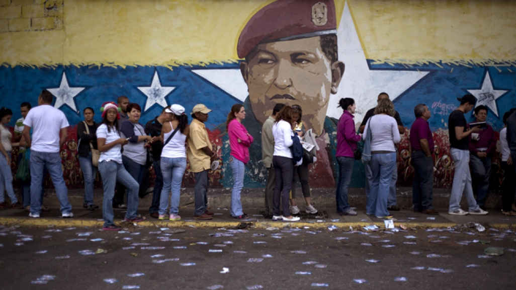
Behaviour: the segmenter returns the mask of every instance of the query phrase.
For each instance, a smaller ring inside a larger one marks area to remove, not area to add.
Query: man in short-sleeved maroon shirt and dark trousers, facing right
[[[433,189],[433,138],[428,125],[430,111],[425,104],[414,108],[416,120],[410,128],[411,163],[414,166],[412,183],[412,203],[414,211],[427,215],[439,215],[432,206]]]

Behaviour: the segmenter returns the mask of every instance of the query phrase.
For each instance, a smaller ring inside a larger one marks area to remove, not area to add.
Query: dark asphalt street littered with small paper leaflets
[[[516,285],[516,234],[511,230],[183,227],[185,232],[175,233],[173,227],[125,225],[122,232],[0,225],[0,288],[513,289]],[[488,247],[505,251],[502,256],[485,256]],[[367,282],[358,283],[359,279]]]

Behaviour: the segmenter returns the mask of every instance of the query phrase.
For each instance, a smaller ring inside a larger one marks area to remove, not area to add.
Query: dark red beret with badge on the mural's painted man
[[[251,17],[238,39],[238,57],[260,43],[336,34],[333,0],[279,0]]]

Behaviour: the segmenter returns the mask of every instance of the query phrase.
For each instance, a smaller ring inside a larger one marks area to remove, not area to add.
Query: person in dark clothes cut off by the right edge
[[[516,216],[514,207],[514,190],[516,190],[516,172],[511,158],[511,150],[507,143],[507,119],[514,113],[513,110],[504,114],[504,128],[500,131],[500,147],[502,147],[502,169],[504,170],[504,191],[502,193],[502,214]]]

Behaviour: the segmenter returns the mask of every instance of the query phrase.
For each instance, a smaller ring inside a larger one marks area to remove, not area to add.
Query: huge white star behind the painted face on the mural
[[[327,116],[340,117],[342,109],[336,108],[338,100],[348,97],[357,104],[359,113],[355,114],[355,121],[361,121],[367,110],[376,106],[379,93],[385,91],[394,100],[428,74],[426,71],[370,70],[347,3],[337,38],[338,59],[345,63],[346,71],[338,93],[330,96]],[[239,69],[197,69],[192,72],[238,100],[244,101],[249,95]]]

